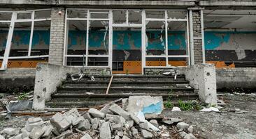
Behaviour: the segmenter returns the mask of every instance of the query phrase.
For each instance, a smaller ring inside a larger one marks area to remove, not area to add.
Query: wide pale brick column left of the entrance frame
[[[52,8],[50,25],[49,63],[63,65],[64,37],[65,37],[65,10]]]

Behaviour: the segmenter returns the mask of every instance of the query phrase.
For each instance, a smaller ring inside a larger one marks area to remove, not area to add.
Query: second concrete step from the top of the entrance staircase
[[[64,81],[62,87],[108,86],[109,81]],[[118,86],[148,86],[164,87],[176,84],[188,84],[189,81],[112,81],[111,87]]]

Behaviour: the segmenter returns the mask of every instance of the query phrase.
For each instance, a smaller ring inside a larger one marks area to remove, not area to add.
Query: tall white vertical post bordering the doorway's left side
[[[108,14],[109,22],[108,22],[108,66],[111,68],[112,72],[112,60],[113,60],[113,13],[112,10],[109,11]]]

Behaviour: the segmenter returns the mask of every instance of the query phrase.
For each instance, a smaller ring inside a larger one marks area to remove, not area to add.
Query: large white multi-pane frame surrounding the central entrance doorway
[[[87,17],[86,18],[68,18],[67,17],[67,13],[68,13],[68,10],[87,10]],[[104,18],[104,19],[90,19],[90,10],[94,10],[92,13],[106,13],[106,12],[100,12],[102,10],[108,10],[109,12],[109,15],[108,15],[108,19]],[[142,65],[142,74],[143,74],[143,71],[144,71],[144,68],[145,67],[150,67],[150,68],[163,68],[164,66],[146,66],[145,65],[145,58],[148,58],[148,57],[157,57],[157,58],[166,58],[166,66],[165,67],[168,67],[168,58],[187,58],[187,65],[190,65],[190,35],[189,35],[189,22],[188,22],[188,11],[187,10],[173,10],[173,11],[186,11],[186,18],[185,19],[176,19],[176,18],[169,18],[167,17],[167,11],[171,11],[169,9],[164,9],[162,11],[164,11],[164,18],[163,19],[156,19],[156,18],[146,18],[145,17],[145,11],[147,10],[157,10],[157,9],[145,9],[145,10],[142,10],[142,9],[100,9],[99,12],[97,12],[97,10],[99,9],[94,9],[94,8],[66,8],[66,18],[65,18],[65,38],[64,38],[64,60],[63,60],[63,65],[66,65],[66,58],[67,57],[83,57],[83,56],[86,56],[86,64],[85,66],[86,67],[109,67],[112,71],[112,54],[113,54],[113,27],[136,27],[136,28],[141,28],[141,65]],[[113,24],[113,10],[126,10],[126,18],[127,18],[127,21],[125,23],[121,23],[121,24]],[[131,10],[134,10],[134,11],[141,11],[141,24],[129,24],[129,13],[128,11],[131,11]],[[159,10],[158,10],[159,11]],[[67,55],[67,44],[68,44],[68,30],[69,30],[69,25],[67,24],[67,21],[68,20],[85,20],[87,21],[87,40],[86,40],[86,54],[85,55]],[[109,42],[108,42],[108,55],[88,55],[88,31],[89,31],[89,24],[88,24],[88,21],[90,20],[104,20],[104,21],[108,21],[108,24],[109,24]],[[166,49],[166,53],[164,56],[160,55],[160,56],[157,56],[157,55],[153,55],[153,56],[147,56],[146,53],[145,53],[145,22],[146,21],[162,21],[162,22],[165,22],[165,37],[166,37],[166,44],[165,44],[165,49]],[[186,22],[186,55],[168,55],[168,25],[167,23],[168,22]],[[88,57],[108,57],[108,66],[88,66],[87,65],[87,58]],[[83,67],[83,66],[73,66],[73,67]]]

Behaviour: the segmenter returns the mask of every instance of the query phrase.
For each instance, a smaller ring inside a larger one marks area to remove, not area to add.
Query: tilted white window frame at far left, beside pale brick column
[[[34,14],[36,11],[44,11],[44,10],[52,10],[52,9],[39,9],[39,10],[22,10],[22,11],[0,11],[0,13],[13,13],[11,20],[8,21],[0,21],[0,22],[9,22],[10,27],[8,31],[8,38],[6,42],[6,49],[3,56],[3,61],[1,65],[0,70],[6,70],[8,65],[9,59],[23,59],[23,58],[47,58],[49,55],[41,55],[41,56],[31,56],[31,45],[32,45],[32,39],[33,39],[33,33],[34,33],[34,22],[40,22],[40,21],[51,21],[51,18],[41,18],[41,19],[34,19]],[[31,19],[17,19],[17,14],[19,13],[31,13]],[[28,56],[9,56],[10,55],[10,47],[11,47],[11,41],[13,38],[13,30],[15,28],[16,22],[31,22],[31,32],[30,32],[30,39],[29,39],[29,50],[28,50]],[[1,57],[0,57],[1,59]]]

